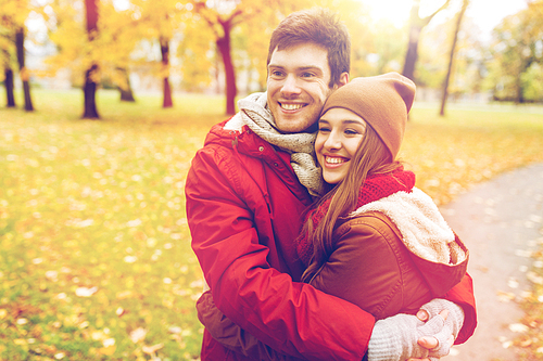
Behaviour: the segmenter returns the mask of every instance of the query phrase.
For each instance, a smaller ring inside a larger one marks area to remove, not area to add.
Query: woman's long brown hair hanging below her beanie
[[[351,159],[345,178],[316,203],[316,208],[331,198],[330,207],[323,220],[314,227],[311,217],[304,223],[302,234],[307,242],[313,242],[313,257],[302,275],[302,281],[310,282],[333,252],[333,230],[340,217],[346,217],[355,210],[358,193],[369,175],[390,173],[401,167],[391,155],[377,132],[366,124],[366,132]]]

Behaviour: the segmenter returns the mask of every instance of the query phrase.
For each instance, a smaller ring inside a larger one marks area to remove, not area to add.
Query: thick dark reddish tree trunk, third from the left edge
[[[85,9],[87,16],[87,35],[89,41],[92,42],[96,33],[98,31],[98,0],[85,0]],[[97,109],[97,83],[94,81],[96,73],[98,72],[98,64],[92,64],[90,68],[85,72],[85,111],[83,114],[84,119],[100,119]]]

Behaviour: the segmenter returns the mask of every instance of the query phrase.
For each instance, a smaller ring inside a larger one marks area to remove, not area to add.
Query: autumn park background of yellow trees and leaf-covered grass
[[[351,77],[417,83],[401,155],[438,205],[542,163],[543,1],[488,33],[470,9],[492,1],[402,2],[395,20],[363,0],[0,0],[0,360],[200,358],[185,179],[210,127],[266,89],[293,11],[338,13]],[[523,360],[543,353],[532,286]]]

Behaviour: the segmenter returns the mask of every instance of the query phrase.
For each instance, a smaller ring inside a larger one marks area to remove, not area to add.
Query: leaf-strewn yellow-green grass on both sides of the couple
[[[100,91],[96,121],[80,91],[33,95],[0,108],[0,359],[198,359],[184,186],[223,98]],[[540,108],[435,108],[413,111],[402,157],[438,203],[543,162]]]

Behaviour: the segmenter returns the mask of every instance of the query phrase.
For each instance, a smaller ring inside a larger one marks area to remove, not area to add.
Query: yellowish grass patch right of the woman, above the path
[[[400,156],[438,204],[497,173],[543,162],[543,107],[417,107]],[[497,108],[497,111],[496,111]]]

